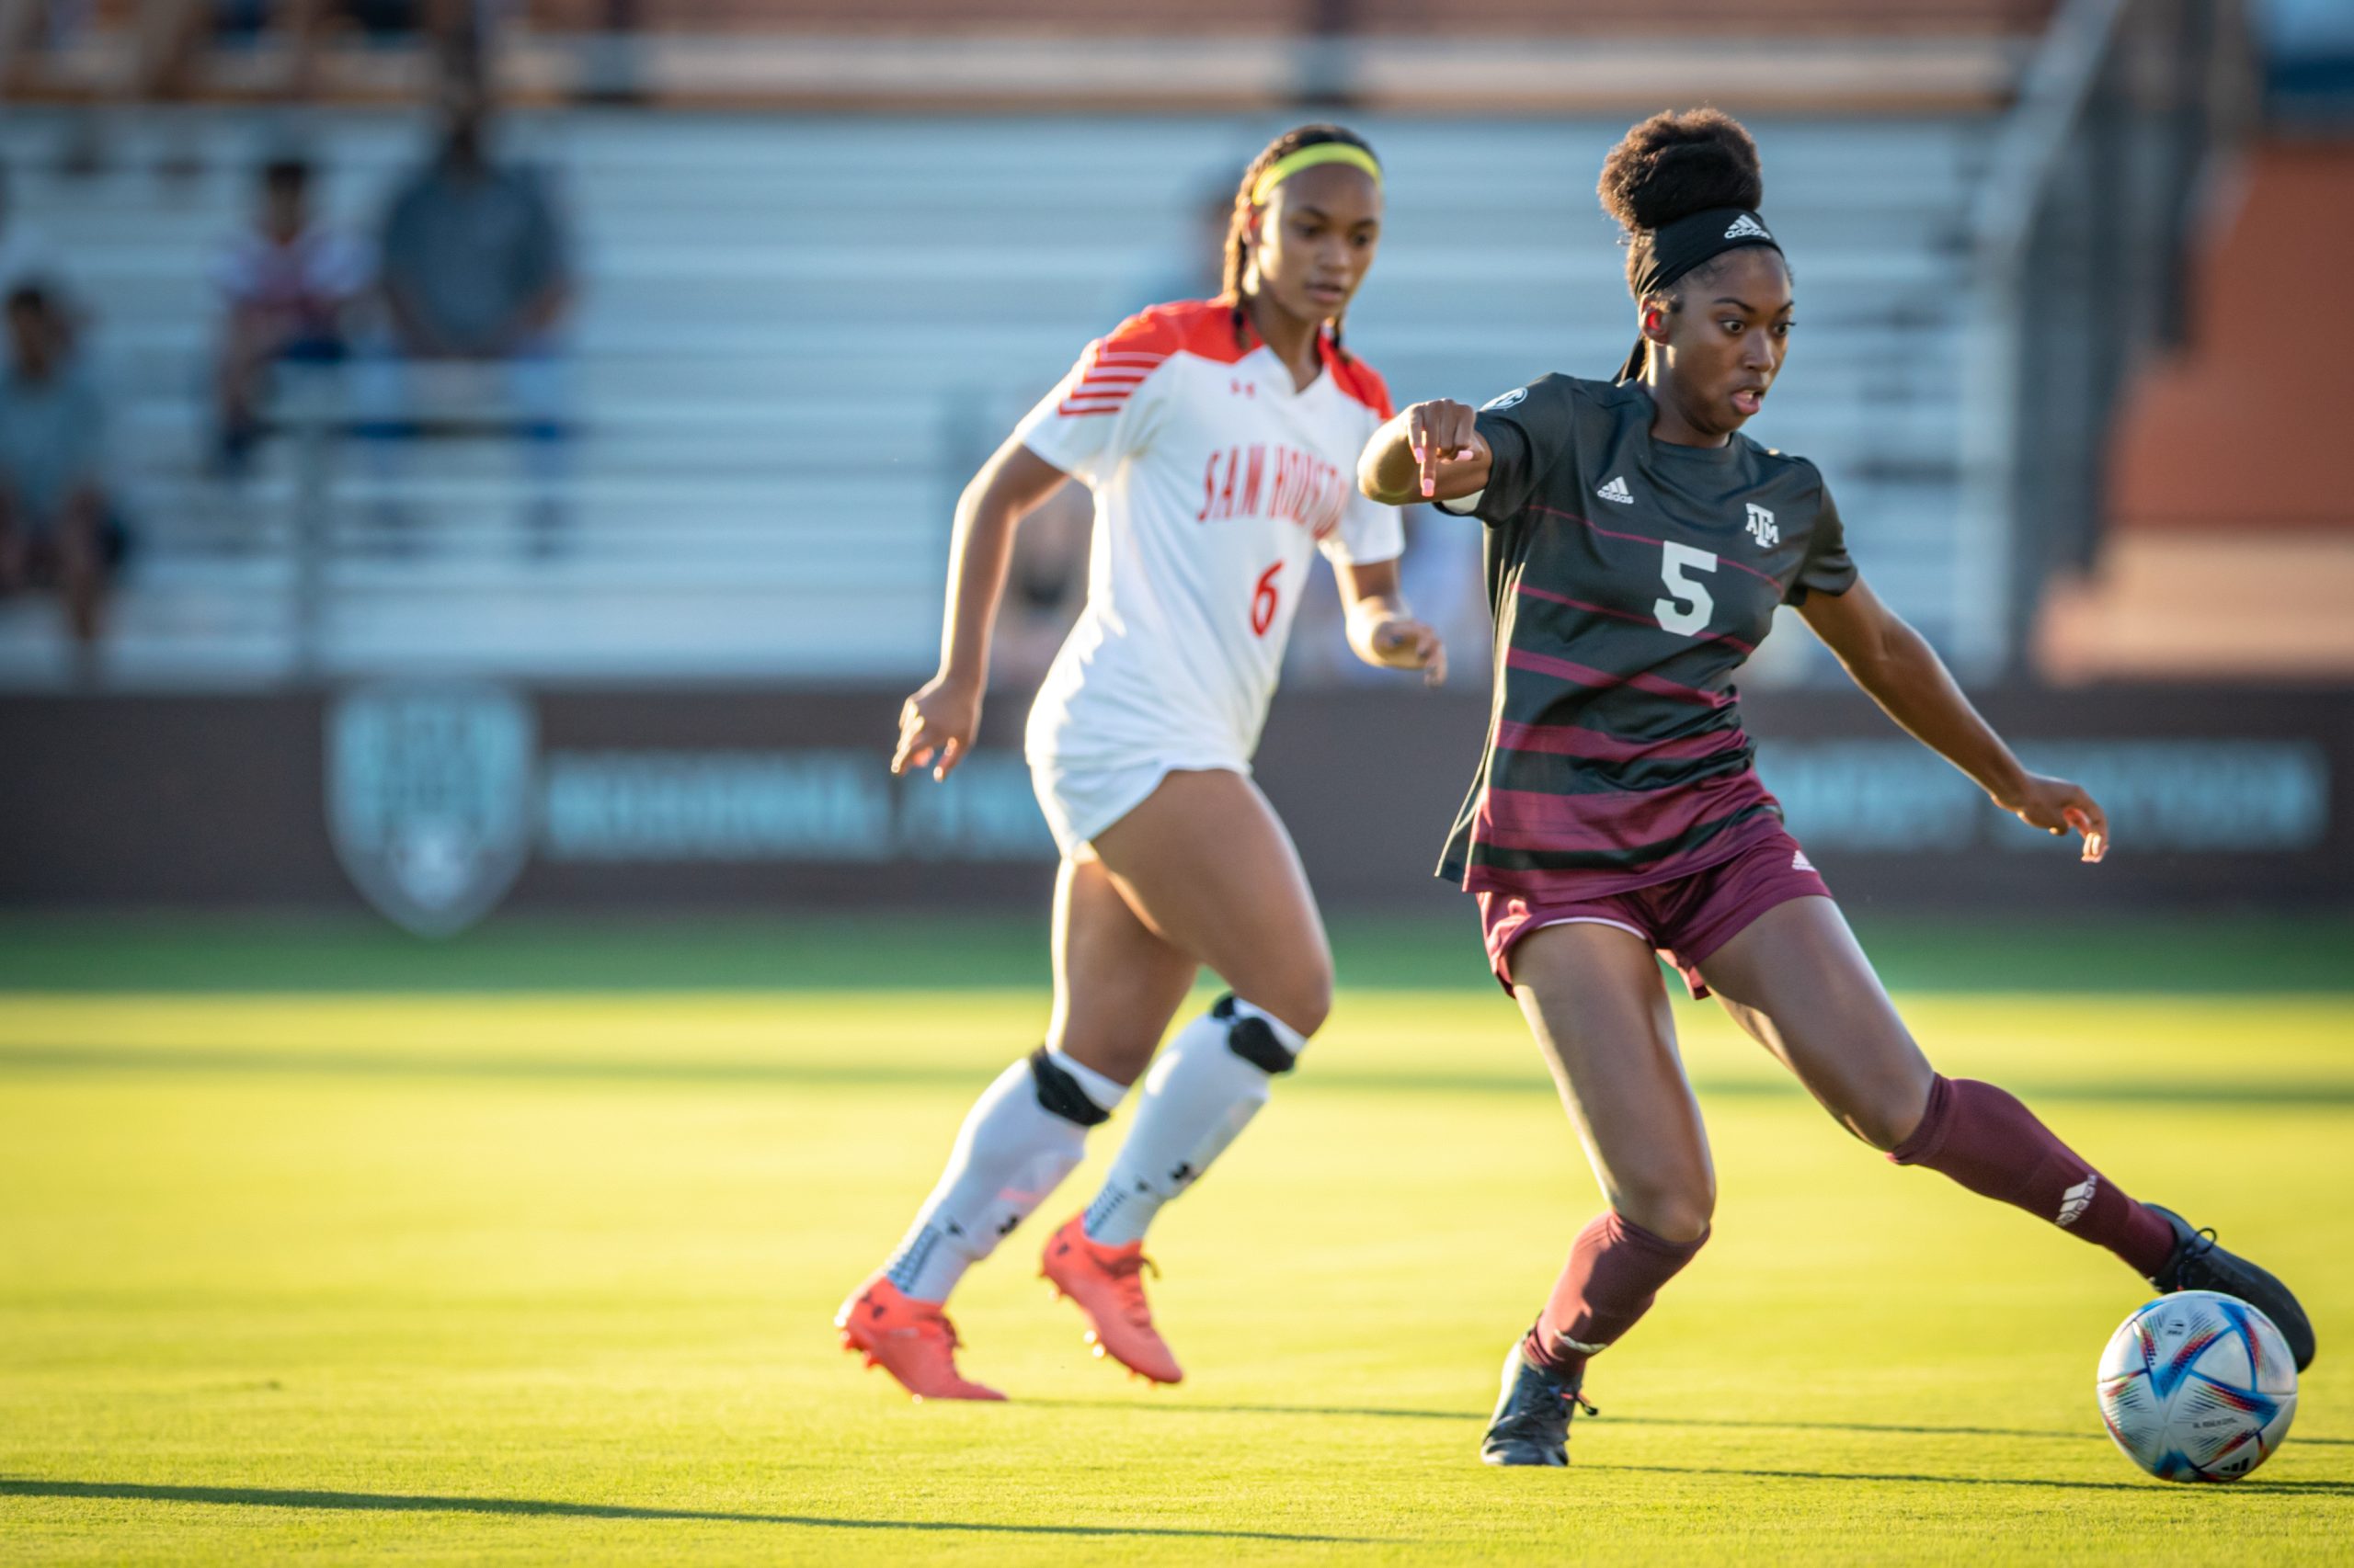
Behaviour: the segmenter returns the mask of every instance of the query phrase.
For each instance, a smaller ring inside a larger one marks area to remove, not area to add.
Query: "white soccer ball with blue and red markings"
[[[2159,1481],[2239,1481],[2298,1415],[2298,1368],[2262,1311],[2215,1290],[2161,1295],[2100,1356],[2100,1420]]]

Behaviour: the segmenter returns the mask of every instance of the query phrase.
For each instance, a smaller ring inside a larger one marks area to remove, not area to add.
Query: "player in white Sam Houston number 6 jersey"
[[[1236,191],[1222,297],[1090,344],[956,509],[939,673],[906,699],[892,758],[937,779],[972,746],[1015,525],[1066,476],[1095,490],[1088,607],[1026,742],[1062,848],[1045,1045],[982,1092],[906,1241],[836,1316],[845,1349],[918,1398],[1003,1398],[958,1373],[942,1307],[1137,1078],[1111,1175],[1048,1238],[1043,1271],[1097,1354],[1177,1382],[1144,1302],[1144,1229],[1332,1005],[1323,921],[1250,756],[1311,549],[1332,560],[1361,659],[1445,678],[1438,636],[1398,593],[1396,513],[1354,487],[1391,414],[1382,377],[1342,348],[1379,228],[1372,151],[1335,125],[1285,132]],[[1203,963],[1231,994],[1153,1064]]]

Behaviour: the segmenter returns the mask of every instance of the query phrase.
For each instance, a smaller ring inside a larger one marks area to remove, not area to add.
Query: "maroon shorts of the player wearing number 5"
[[[1831,897],[1831,890],[1808,864],[1806,850],[1775,826],[1733,859],[1702,866],[1648,888],[1580,897],[1525,899],[1509,892],[1481,892],[1478,918],[1488,932],[1488,968],[1511,989],[1511,946],[1542,925],[1617,925],[1643,937],[1683,975],[1693,996],[1707,996],[1700,965],[1737,937],[1749,921],[1775,904],[1803,897]]]

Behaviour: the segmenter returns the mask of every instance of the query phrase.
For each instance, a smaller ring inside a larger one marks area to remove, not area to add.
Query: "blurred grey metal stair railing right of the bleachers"
[[[2043,584],[2100,544],[2126,377],[2182,334],[2192,221],[2255,113],[2241,0],[2069,0],[1970,214],[1956,666],[2017,669]]]

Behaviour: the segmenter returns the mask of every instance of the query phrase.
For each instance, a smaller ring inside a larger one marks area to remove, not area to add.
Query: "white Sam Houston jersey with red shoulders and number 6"
[[[1323,344],[1304,391],[1231,306],[1121,323],[1015,431],[1095,490],[1088,607],[1038,687],[1031,763],[1243,768],[1259,744],[1309,549],[1335,565],[1405,549],[1356,490],[1389,388]]]

